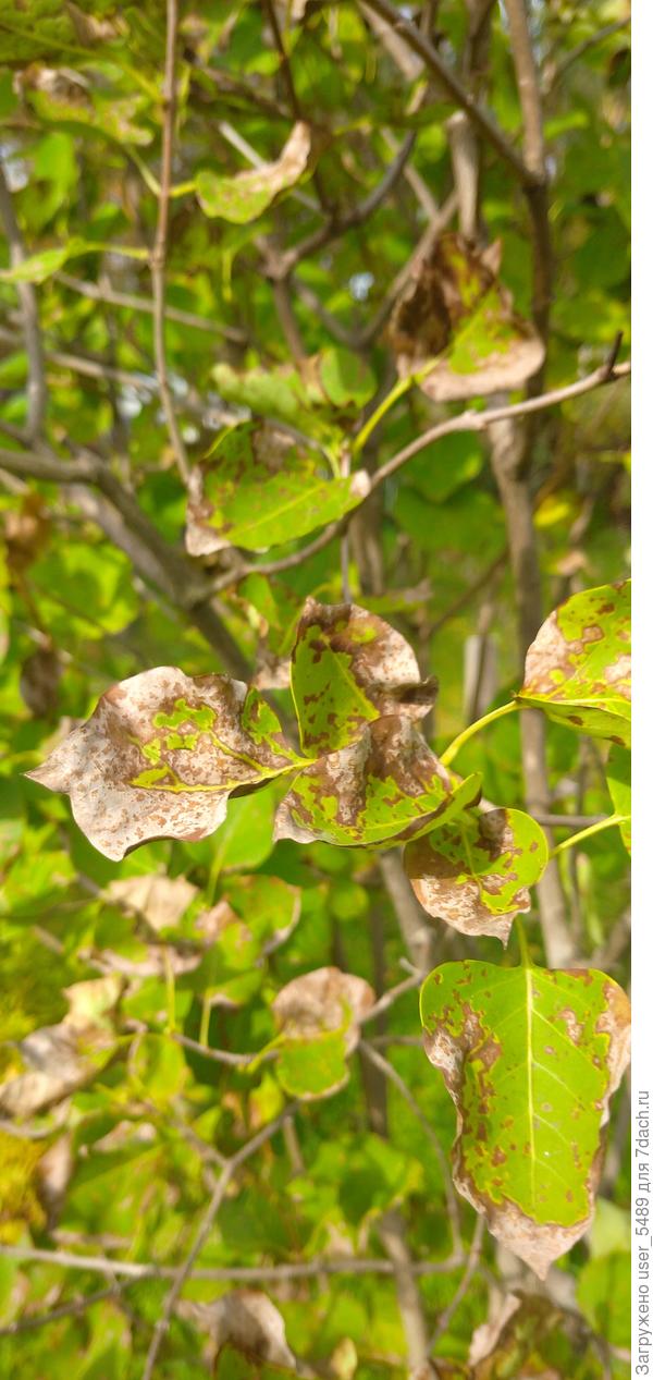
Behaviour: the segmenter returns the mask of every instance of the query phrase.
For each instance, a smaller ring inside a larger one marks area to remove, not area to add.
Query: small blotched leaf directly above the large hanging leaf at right
[[[522,810],[466,814],[409,843],[404,868],[420,905],[460,930],[507,944],[512,920],[530,909],[548,862],[547,839]]]

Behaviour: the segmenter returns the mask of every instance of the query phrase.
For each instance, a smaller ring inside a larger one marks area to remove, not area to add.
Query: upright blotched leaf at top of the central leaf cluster
[[[435,682],[420,680],[412,647],[358,604],[307,599],[291,664],[302,748],[311,756],[355,742],[384,715],[422,719]]]

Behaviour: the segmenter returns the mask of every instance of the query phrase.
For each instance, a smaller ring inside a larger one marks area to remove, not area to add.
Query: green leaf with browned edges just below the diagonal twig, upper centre
[[[350,512],[369,493],[365,471],[333,479],[315,453],[285,432],[244,422],[225,431],[191,473],[186,546],[267,551]]]

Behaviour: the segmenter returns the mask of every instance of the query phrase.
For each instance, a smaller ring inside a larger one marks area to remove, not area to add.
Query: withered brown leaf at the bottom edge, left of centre
[[[285,1340],[284,1319],[267,1294],[258,1289],[233,1289],[215,1303],[182,1299],[176,1311],[180,1318],[209,1333],[218,1355],[225,1347],[234,1347],[252,1361],[296,1370],[295,1357]]]

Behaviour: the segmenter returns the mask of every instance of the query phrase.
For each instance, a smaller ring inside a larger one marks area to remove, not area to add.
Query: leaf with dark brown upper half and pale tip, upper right
[[[496,277],[499,248],[481,251],[462,235],[444,235],[393,312],[388,339],[400,377],[434,359],[419,386],[438,403],[521,388],[544,359],[540,337]]]

